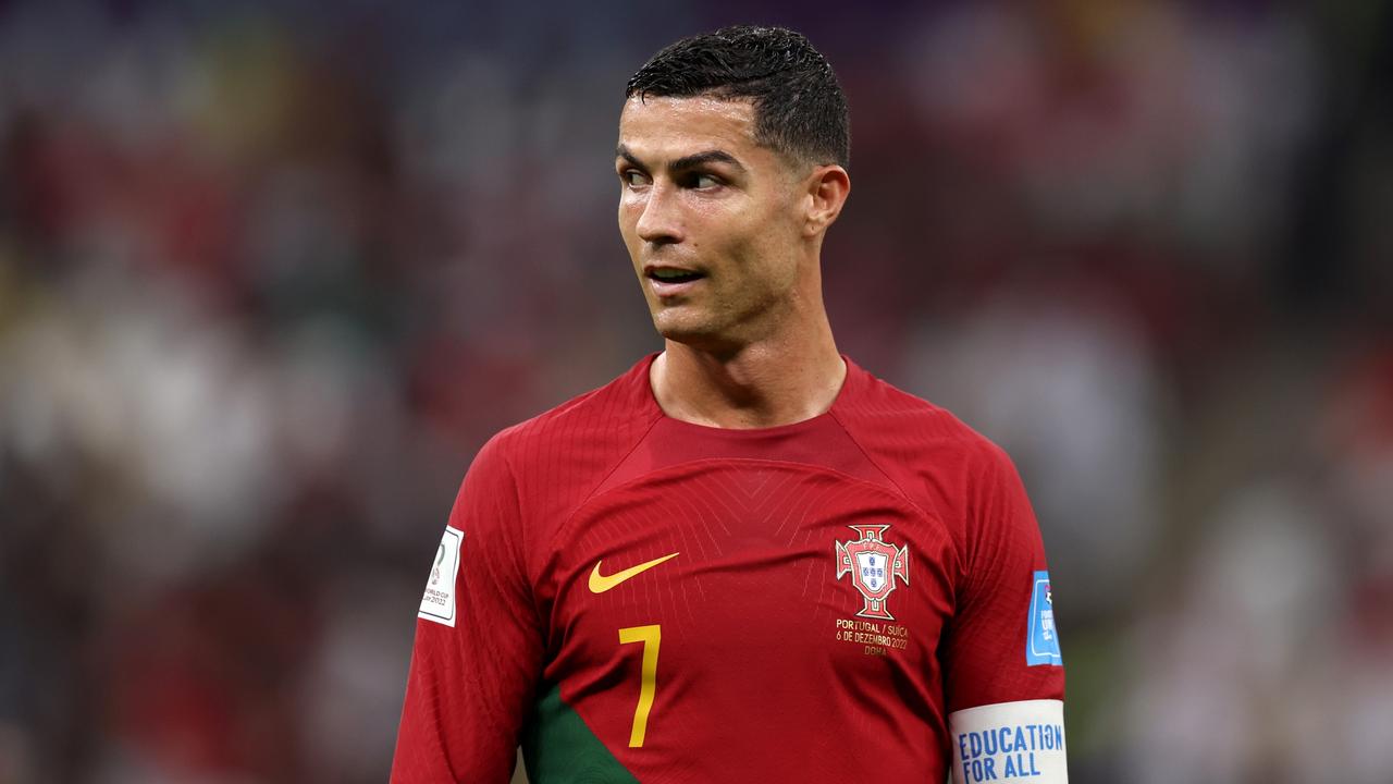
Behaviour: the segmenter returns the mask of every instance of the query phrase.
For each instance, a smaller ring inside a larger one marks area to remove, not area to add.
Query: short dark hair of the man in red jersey
[[[851,162],[847,96],[801,33],[737,25],[663,47],[628,80],[638,96],[751,99],[755,141],[808,163]]]

